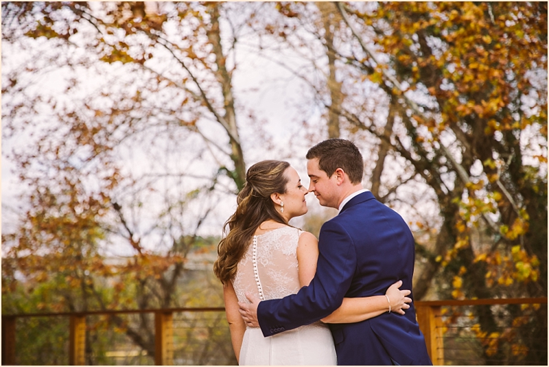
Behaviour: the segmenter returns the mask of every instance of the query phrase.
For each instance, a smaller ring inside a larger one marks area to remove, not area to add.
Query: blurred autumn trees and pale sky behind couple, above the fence
[[[333,137],[414,231],[414,299],[547,295],[547,3],[1,6],[3,314],[222,305],[246,168]],[[335,213],[311,208],[318,235]],[[112,321],[151,352],[154,325]]]

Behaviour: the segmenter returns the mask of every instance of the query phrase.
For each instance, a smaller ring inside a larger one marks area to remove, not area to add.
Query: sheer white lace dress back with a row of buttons
[[[287,226],[253,237],[233,279],[240,302],[248,302],[246,292],[269,300],[299,291],[296,250],[300,234]]]

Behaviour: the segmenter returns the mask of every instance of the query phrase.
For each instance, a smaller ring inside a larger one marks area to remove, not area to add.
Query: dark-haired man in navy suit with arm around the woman
[[[412,289],[412,233],[399,214],[362,189],[363,171],[362,155],[350,141],[329,139],[307,152],[309,192],[339,214],[320,229],[309,286],[282,299],[259,302],[246,295],[253,303],[239,305],[248,326],[261,327],[267,337],[328,316],[344,297],[381,295],[398,280]],[[329,327],[340,365],[432,364],[413,302],[405,315],[386,312]]]

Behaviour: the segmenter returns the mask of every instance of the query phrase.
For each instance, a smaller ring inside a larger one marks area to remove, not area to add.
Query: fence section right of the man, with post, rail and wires
[[[414,305],[434,365],[547,364],[545,297],[416,301]],[[513,310],[502,308],[511,305],[519,309],[513,313]],[[544,307],[540,308],[540,305]],[[493,308],[491,316],[495,315],[490,318],[494,320],[488,325],[489,333],[482,329],[487,326],[481,325],[482,320],[479,320],[480,313],[489,311],[487,307]],[[532,317],[534,311],[539,311],[545,320],[537,324],[541,336],[525,341],[518,331],[528,322],[539,322],[539,317]],[[544,348],[536,349],[535,345]],[[505,354],[502,349],[507,349],[509,355],[502,355]]]

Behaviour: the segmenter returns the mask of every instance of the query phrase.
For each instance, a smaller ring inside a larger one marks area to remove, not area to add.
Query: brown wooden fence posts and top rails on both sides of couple
[[[436,300],[417,301],[417,320],[425,335],[428,353],[434,365],[445,364],[443,344],[442,307],[476,305],[539,305],[547,304],[547,298],[507,298],[480,300]],[[2,364],[16,364],[16,319],[48,316],[69,317],[69,365],[85,364],[86,316],[114,315],[119,313],[154,313],[154,363],[156,365],[174,364],[173,351],[173,314],[176,312],[221,312],[222,307],[172,308],[148,310],[87,311],[65,313],[28,313],[2,316]]]

